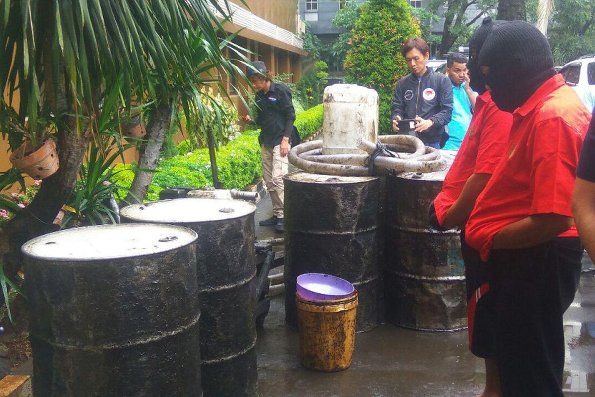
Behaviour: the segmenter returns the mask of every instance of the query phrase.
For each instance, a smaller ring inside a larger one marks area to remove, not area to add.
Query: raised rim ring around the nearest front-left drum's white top
[[[33,244],[39,242],[40,240],[48,239],[49,236],[56,236],[56,235],[67,235],[70,233],[79,232],[80,230],[84,229],[113,229],[114,227],[128,227],[130,229],[136,229],[140,227],[159,227],[162,229],[178,229],[180,232],[184,232],[192,236],[190,241],[183,244],[177,245],[168,249],[162,249],[159,251],[152,251],[152,252],[130,252],[128,255],[105,255],[105,257],[100,258],[73,258],[73,257],[51,257],[47,255],[39,255],[33,254],[32,252],[27,252],[26,248],[32,246]],[[44,261],[52,261],[52,262],[100,262],[105,260],[114,260],[114,259],[125,259],[125,258],[142,258],[142,257],[152,257],[159,254],[164,254],[165,252],[171,252],[174,249],[184,248],[186,246],[194,245],[198,240],[198,233],[195,230],[190,229],[189,227],[179,226],[179,225],[172,225],[172,224],[156,224],[156,223],[127,223],[127,224],[103,224],[103,225],[94,225],[94,226],[83,226],[83,227],[76,227],[73,229],[64,229],[58,230],[58,232],[47,233],[45,235],[34,237],[33,239],[28,240],[23,245],[21,245],[21,253],[26,258],[32,258],[37,260],[44,260]]]

